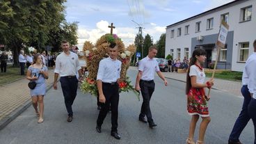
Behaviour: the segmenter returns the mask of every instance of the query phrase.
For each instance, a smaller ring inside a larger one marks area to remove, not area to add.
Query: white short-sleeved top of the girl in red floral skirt
[[[205,83],[205,72],[204,69],[202,69],[202,72],[200,72],[198,66],[191,65],[189,70],[189,76],[195,76],[196,77],[196,83]]]

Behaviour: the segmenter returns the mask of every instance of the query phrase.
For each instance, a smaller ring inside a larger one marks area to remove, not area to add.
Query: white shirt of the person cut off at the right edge
[[[250,93],[253,93],[253,98],[256,99],[256,53],[253,52],[246,61],[246,66],[243,70],[243,76],[247,77],[247,85]],[[244,78],[243,77],[243,78]]]

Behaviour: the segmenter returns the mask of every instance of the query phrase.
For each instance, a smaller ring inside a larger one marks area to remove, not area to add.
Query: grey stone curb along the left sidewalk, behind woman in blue
[[[59,80],[58,80],[59,81]],[[50,83],[49,86],[46,88],[46,93],[48,90],[50,90],[53,87],[54,82]],[[0,130],[6,127],[10,122],[12,122],[17,116],[19,116],[21,113],[23,113],[26,109],[31,106],[31,99],[27,100],[19,106],[15,111],[11,112],[6,118],[3,118],[0,120]]]

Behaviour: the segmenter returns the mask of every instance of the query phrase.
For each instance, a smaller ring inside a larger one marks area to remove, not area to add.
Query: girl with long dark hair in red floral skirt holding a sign
[[[186,139],[187,144],[195,144],[193,137],[199,117],[202,118],[202,122],[200,123],[197,144],[204,143],[205,131],[211,121],[207,106],[209,98],[205,95],[204,88],[211,88],[214,85],[214,79],[205,83],[205,72],[201,66],[205,62],[205,54],[205,49],[198,48],[193,51],[189,70],[186,74],[187,111],[192,116],[189,125],[189,137]]]

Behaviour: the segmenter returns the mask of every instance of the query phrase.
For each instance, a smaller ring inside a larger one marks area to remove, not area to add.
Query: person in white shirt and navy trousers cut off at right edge
[[[239,144],[239,136],[246,127],[250,118],[253,120],[256,144],[256,40],[253,42],[254,52],[249,56],[243,69],[241,93],[244,97],[242,110],[234,123],[234,127],[228,140],[229,144]]]

